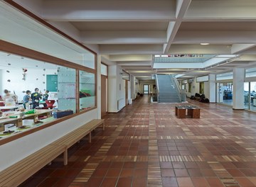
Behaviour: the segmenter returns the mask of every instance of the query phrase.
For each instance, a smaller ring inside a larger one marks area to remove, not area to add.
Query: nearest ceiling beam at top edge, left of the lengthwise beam
[[[51,21],[169,21],[174,0],[51,0],[43,1],[42,17]]]

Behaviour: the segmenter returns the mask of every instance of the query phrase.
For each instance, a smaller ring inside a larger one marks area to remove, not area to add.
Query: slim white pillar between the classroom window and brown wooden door
[[[101,119],[101,55],[97,55],[97,118]]]

